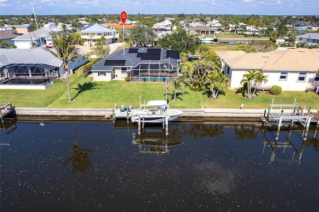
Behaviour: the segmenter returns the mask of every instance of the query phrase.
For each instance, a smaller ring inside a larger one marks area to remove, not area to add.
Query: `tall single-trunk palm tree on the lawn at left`
[[[62,69],[65,70],[66,86],[68,89],[68,102],[72,102],[68,77],[68,68],[70,66],[69,62],[77,60],[83,56],[77,53],[77,49],[75,47],[76,40],[72,34],[51,33],[51,36],[53,39],[52,46],[56,52],[48,51],[50,51],[59,60],[62,60]]]

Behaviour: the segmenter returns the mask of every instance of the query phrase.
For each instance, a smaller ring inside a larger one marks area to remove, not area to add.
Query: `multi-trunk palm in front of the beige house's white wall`
[[[246,84],[247,86],[247,97],[248,99],[253,99],[254,94],[257,90],[258,83],[260,82],[267,82],[267,76],[262,75],[257,70],[247,70],[247,74],[243,75],[244,79],[240,81],[240,84]],[[255,90],[253,93],[251,93],[251,87],[255,83]]]

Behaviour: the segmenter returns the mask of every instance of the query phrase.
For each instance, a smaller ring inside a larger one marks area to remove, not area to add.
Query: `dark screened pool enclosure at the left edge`
[[[0,85],[46,85],[59,77],[59,67],[47,64],[9,64],[0,68]]]

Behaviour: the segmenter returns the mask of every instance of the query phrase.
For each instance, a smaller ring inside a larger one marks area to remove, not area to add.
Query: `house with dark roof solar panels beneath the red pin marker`
[[[92,68],[94,81],[163,82],[179,76],[179,50],[127,48],[114,52]]]

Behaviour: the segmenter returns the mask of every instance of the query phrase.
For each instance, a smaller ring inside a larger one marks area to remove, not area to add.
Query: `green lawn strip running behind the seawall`
[[[70,77],[71,97],[68,103],[66,83],[54,83],[47,90],[1,90],[0,102],[12,103],[16,107],[51,107],[51,108],[114,108],[114,104],[139,106],[139,96],[144,100],[165,100],[165,83],[128,83],[123,81],[92,82],[91,77],[83,77],[77,71]],[[82,90],[77,84],[81,84]],[[170,96],[167,95],[168,100]],[[319,96],[312,92],[282,92],[279,96],[271,96],[266,92],[257,93],[255,100],[247,100],[234,90],[223,90],[224,95],[218,99],[210,99],[205,92],[192,92],[184,88],[184,94],[177,102],[169,101],[172,108],[244,108],[267,109],[268,104],[294,104],[295,98],[299,106],[312,106],[319,109]]]

